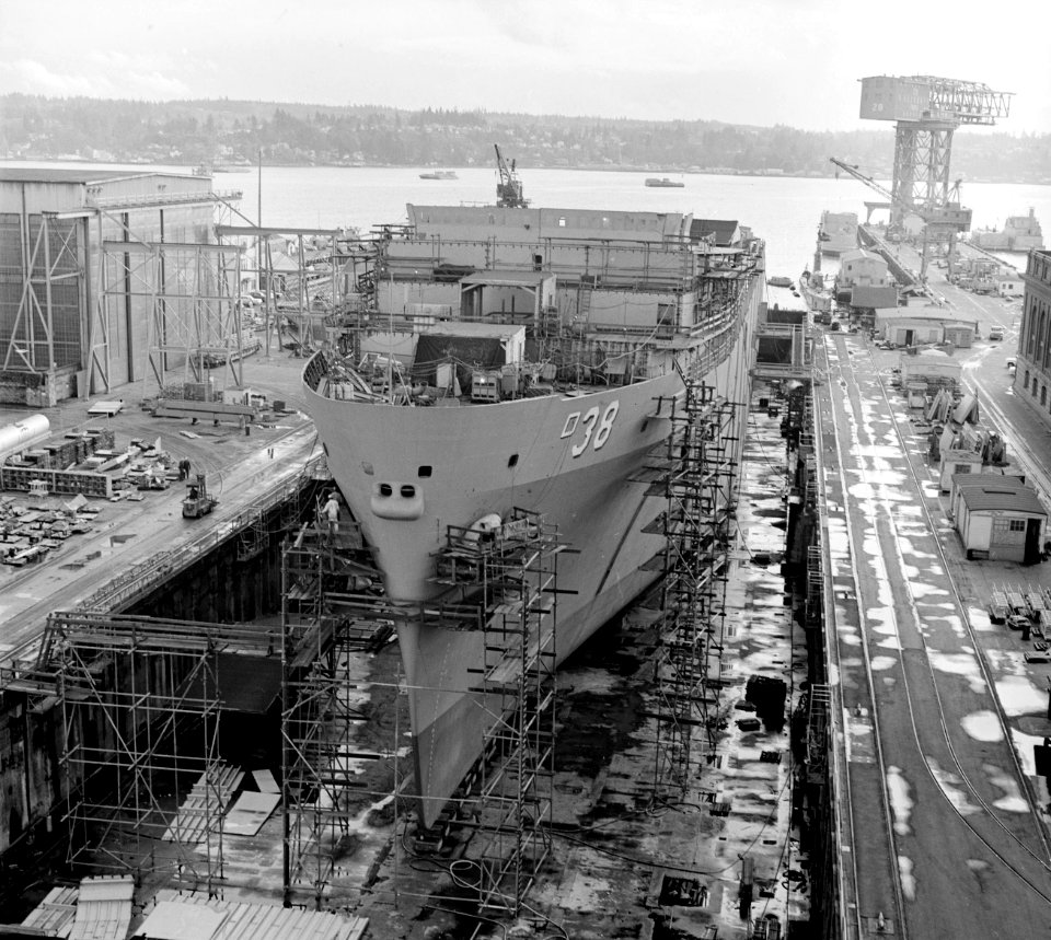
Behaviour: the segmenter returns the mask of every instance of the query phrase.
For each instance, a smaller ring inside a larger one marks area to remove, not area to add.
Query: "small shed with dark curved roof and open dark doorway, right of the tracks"
[[[968,558],[1040,560],[1047,512],[1037,491],[1020,478],[956,474],[952,513]]]

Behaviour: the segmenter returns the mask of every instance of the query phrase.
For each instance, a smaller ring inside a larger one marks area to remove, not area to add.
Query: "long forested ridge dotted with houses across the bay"
[[[813,131],[712,120],[647,121],[486,111],[322,107],[247,101],[142,102],[0,96],[0,156],[175,163],[463,167],[492,165],[493,144],[522,166],[828,176],[829,156],[887,178],[893,126]],[[954,138],[952,174],[1051,183],[1051,135]]]

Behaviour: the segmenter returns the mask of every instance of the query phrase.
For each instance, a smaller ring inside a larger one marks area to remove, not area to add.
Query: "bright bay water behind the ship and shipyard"
[[[10,169],[20,165],[112,169],[112,164],[0,163]],[[190,172],[187,166],[134,167],[140,173],[150,169]],[[217,192],[240,192],[241,211],[253,222],[275,228],[349,225],[368,232],[376,225],[404,222],[406,202],[492,205],[495,201],[495,166],[457,167],[459,178],[444,181],[420,179],[425,169],[264,164],[262,171],[244,167],[216,173],[212,182]],[[765,240],[767,271],[792,277],[812,263],[823,209],[857,212],[864,221],[864,204],[881,201],[877,193],[845,176],[834,179],[686,173],[671,177],[684,184],[681,189],[662,189],[645,186],[647,175],[654,174],[519,167],[526,197],[533,206],[691,212],[698,219],[736,219]],[[889,185],[886,181],[883,184]],[[963,205],[973,210],[974,228],[1002,228],[1007,216],[1025,214],[1032,208],[1046,232],[1051,233],[1051,186],[965,182],[962,197]],[[1047,237],[1051,242],[1051,234]],[[1024,255],[1013,256],[1012,262],[1025,267]]]

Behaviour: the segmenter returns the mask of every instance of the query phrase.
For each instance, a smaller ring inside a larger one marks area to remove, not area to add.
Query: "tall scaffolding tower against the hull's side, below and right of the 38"
[[[667,502],[648,526],[666,539],[655,559],[663,569],[654,666],[658,796],[681,794],[690,785],[696,728],[707,759],[716,746],[739,410],[713,386],[688,384],[685,397],[671,403],[665,472],[651,488]]]

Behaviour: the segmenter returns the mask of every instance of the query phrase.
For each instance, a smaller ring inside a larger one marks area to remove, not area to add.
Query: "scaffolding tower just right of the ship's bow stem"
[[[517,915],[551,854],[557,559],[566,546],[522,509],[488,535],[452,525],[446,537],[437,580],[477,604],[485,654],[467,692],[489,717],[483,758],[454,805],[460,824],[470,816],[478,829],[465,880],[482,910]]]

